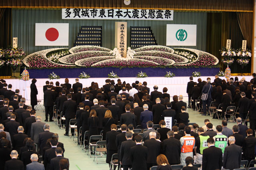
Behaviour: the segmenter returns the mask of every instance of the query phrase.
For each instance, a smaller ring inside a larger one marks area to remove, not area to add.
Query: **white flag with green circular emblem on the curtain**
[[[196,25],[167,24],[166,45],[196,46]]]

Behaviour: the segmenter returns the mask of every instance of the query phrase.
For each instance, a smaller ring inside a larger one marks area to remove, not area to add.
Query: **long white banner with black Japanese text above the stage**
[[[62,8],[62,19],[173,20],[173,10]]]

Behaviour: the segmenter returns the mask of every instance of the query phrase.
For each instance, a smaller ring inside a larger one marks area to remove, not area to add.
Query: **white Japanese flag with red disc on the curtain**
[[[68,24],[36,23],[36,46],[68,46]]]

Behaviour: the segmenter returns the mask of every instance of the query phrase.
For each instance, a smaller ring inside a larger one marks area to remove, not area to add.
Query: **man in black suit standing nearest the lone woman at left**
[[[50,113],[49,122],[52,122],[52,111],[54,104],[54,94],[50,85],[47,86],[47,90],[44,91],[44,107],[45,107],[45,122],[48,122],[48,113]]]

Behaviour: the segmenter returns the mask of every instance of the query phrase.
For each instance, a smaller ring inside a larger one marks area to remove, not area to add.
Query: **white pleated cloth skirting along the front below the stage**
[[[40,76],[40,75],[39,75]],[[214,81],[214,76],[202,76],[202,77],[194,77],[194,81],[197,82],[198,78],[201,78],[202,81],[206,81],[206,78],[210,77],[212,82]],[[235,76],[233,76],[235,77]],[[252,79],[252,76],[243,76],[246,77],[246,81],[250,81]],[[225,77],[220,77],[221,79],[225,79]],[[89,79],[79,79],[79,82],[83,84],[83,87],[89,87],[91,85],[91,82],[97,82],[99,87],[102,87],[105,84],[105,80],[107,78],[89,78]],[[162,92],[162,89],[164,87],[168,88],[167,93],[170,94],[170,96],[174,95],[183,95],[184,97],[187,97],[186,88],[187,83],[189,81],[189,76],[187,77],[146,77],[146,78],[136,78],[136,77],[120,77],[121,81],[126,81],[126,83],[134,83],[136,80],[140,81],[141,83],[143,81],[146,81],[148,83],[147,87],[150,88],[150,92],[153,91],[154,85],[158,85],[158,91]],[[238,76],[238,79],[242,79],[242,76]],[[30,100],[30,84],[31,80],[29,81],[22,81],[19,79],[5,79],[7,84],[12,84],[12,90],[15,91],[15,89],[20,90],[20,95],[25,97],[27,100]],[[115,83],[117,83],[117,79],[115,80]],[[43,99],[43,86],[45,85],[46,81],[52,81],[55,85],[56,81],[59,81],[60,84],[64,83],[64,78],[62,79],[37,79],[36,87],[38,89],[38,95],[37,99],[42,100]],[[72,85],[75,83],[75,78],[70,78],[69,83]],[[171,99],[172,100],[172,99]]]

